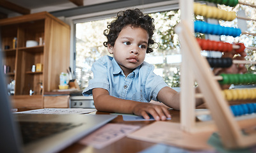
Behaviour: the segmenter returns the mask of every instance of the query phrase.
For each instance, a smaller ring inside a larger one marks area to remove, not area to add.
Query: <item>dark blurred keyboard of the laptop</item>
[[[61,133],[68,129],[81,126],[82,123],[63,123],[63,122],[19,122],[22,140],[24,145],[29,142],[34,142],[40,138],[45,138],[49,135]]]

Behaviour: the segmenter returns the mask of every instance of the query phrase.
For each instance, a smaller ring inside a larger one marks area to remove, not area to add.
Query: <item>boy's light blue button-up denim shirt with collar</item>
[[[94,88],[102,88],[116,98],[141,102],[149,102],[151,99],[157,101],[158,92],[168,85],[153,70],[152,64],[143,62],[125,77],[115,59],[105,55],[93,63],[93,79],[89,81],[83,95],[92,94]]]

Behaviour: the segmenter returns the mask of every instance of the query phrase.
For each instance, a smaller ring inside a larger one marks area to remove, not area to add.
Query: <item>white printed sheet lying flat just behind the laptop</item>
[[[15,113],[40,113],[40,114],[68,114],[68,113],[91,113],[97,111],[96,109],[84,109],[84,108],[44,108],[38,110],[28,110]]]

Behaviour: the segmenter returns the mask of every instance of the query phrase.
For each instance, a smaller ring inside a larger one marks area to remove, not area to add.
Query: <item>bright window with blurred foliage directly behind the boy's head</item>
[[[145,61],[154,64],[154,72],[164,78],[170,87],[179,87],[179,68],[181,55],[179,39],[174,27],[179,22],[179,10],[150,13],[154,18],[156,31],[153,45],[154,52],[147,54]],[[103,42],[106,41],[103,31],[107,23],[114,18],[92,20],[76,24],[76,76],[77,82],[84,89],[93,77],[92,64],[103,55],[110,55]]]

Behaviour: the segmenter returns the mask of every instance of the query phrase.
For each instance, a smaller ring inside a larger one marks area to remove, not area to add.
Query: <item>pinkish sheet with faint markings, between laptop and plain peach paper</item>
[[[106,124],[102,128],[86,136],[79,143],[83,145],[91,145],[97,149],[102,149],[107,145],[124,138],[128,133],[139,129],[140,126],[126,124]]]

